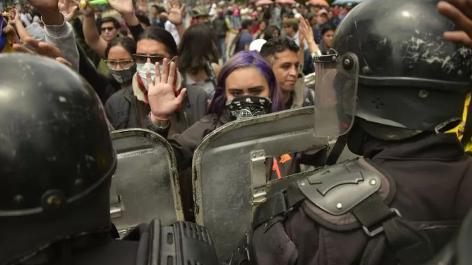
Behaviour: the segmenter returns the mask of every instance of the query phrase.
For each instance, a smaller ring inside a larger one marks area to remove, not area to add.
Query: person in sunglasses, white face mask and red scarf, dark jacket
[[[114,51],[115,47],[111,48]],[[146,73],[150,72],[151,79],[156,73],[154,64],[163,64],[163,61],[178,63],[177,45],[172,35],[157,26],[151,26],[144,30],[136,42],[136,51],[132,57],[127,54],[122,60],[111,60],[109,53],[109,67],[116,67],[114,76],[119,76],[126,71],[118,70],[123,68],[125,62],[132,58],[132,66],[136,71],[131,76],[129,86],[113,94],[106,102],[105,109],[108,119],[115,129],[143,128],[146,127],[147,114],[150,111],[147,91],[149,88]],[[135,65],[135,66],[134,66]],[[176,79],[173,84],[173,91],[179,95],[182,88],[182,77],[176,71]],[[129,81],[127,72],[123,81]],[[124,76],[123,76],[124,77]],[[207,95],[203,89],[192,89],[187,93],[186,100],[180,104],[170,115],[173,126],[169,129],[169,134],[177,134],[185,131],[193,123],[198,121],[207,112]]]

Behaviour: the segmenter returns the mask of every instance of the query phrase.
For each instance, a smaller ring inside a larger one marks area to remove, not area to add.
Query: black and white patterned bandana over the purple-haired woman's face
[[[240,96],[226,101],[232,120],[267,114],[271,105],[269,98],[258,96]]]

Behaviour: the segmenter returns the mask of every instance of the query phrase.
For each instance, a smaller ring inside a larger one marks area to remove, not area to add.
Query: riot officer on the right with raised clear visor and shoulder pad
[[[315,134],[362,158],[260,205],[231,264],[422,264],[472,207],[472,160],[444,131],[470,92],[472,50],[434,0],[366,0],[316,65]]]

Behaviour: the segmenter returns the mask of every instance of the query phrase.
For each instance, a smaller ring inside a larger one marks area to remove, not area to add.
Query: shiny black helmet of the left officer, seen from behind
[[[110,229],[116,155],[80,75],[35,55],[0,64],[0,264],[16,264]]]

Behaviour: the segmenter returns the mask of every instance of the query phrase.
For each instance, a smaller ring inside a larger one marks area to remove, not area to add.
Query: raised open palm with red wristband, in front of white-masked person
[[[176,80],[176,66],[174,62],[168,63],[168,59],[163,61],[162,76],[159,70],[159,63],[155,64],[155,83],[152,83],[152,79],[149,73],[147,73],[147,100],[149,101],[149,107],[151,108],[151,114],[159,118],[168,118],[174,113],[177,107],[182,104],[185,98],[185,92],[183,88],[179,95],[176,96],[174,91],[174,85]]]

